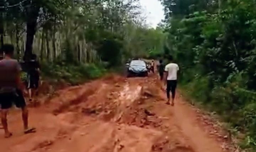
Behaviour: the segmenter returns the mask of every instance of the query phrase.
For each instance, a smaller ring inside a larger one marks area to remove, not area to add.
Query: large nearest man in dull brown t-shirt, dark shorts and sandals
[[[1,122],[5,132],[4,137],[9,138],[12,133],[8,130],[7,113],[12,104],[22,110],[24,133],[34,132],[35,128],[28,128],[28,110],[23,98],[25,87],[23,87],[20,78],[21,66],[17,60],[12,59],[14,46],[6,44],[2,47],[2,50],[5,52],[5,58],[0,60]]]

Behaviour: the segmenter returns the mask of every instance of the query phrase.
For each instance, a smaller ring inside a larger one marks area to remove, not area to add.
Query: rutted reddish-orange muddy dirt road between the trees
[[[37,133],[23,135],[18,110],[9,115],[13,136],[1,152],[224,152],[228,139],[178,94],[174,107],[156,76],[107,76],[59,90],[30,108]]]

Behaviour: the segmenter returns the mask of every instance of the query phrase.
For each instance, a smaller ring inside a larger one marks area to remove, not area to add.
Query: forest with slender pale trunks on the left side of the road
[[[0,45],[13,44],[20,61],[35,53],[46,75],[74,80],[156,57],[165,38],[145,24],[139,0],[1,0],[0,17]]]

